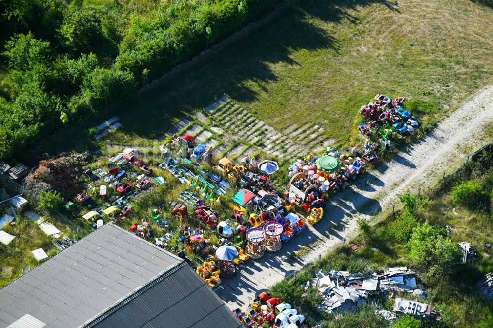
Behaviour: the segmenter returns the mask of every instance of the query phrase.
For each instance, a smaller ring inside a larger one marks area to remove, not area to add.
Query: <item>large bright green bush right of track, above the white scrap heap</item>
[[[431,283],[450,276],[461,263],[462,253],[447,237],[446,230],[433,227],[428,221],[413,230],[407,248],[411,264]]]

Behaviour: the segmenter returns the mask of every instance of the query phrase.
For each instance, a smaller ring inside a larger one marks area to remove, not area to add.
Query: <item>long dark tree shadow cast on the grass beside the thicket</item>
[[[225,94],[241,102],[254,101],[258,99],[258,93],[252,84],[265,91],[262,84],[278,80],[272,70],[273,64],[300,66],[291,58],[293,52],[303,49],[337,52],[339,40],[315,26],[311,22],[314,17],[327,22],[350,20],[356,23],[357,17],[348,10],[372,3],[382,3],[395,10],[395,6],[383,0],[302,1],[291,5],[246,37],[164,79],[133,100],[112,106],[105,115],[92,119],[83,127],[74,127],[63,135],[50,138],[36,152],[56,154],[64,150],[93,149],[98,143],[87,135],[87,130],[115,115],[120,118],[121,131],[125,134],[125,140],[120,139],[120,143],[131,143],[134,137],[160,138],[184,115]]]

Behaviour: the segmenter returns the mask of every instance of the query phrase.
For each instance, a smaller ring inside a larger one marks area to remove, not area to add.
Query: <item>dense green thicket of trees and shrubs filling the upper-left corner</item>
[[[0,1],[9,69],[1,82],[0,158],[34,144],[47,121],[53,132],[131,97],[280,1]]]

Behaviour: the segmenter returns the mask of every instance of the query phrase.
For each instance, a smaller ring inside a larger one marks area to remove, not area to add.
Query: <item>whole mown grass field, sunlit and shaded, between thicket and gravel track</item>
[[[493,10],[484,3],[295,1],[245,38],[115,106],[109,115],[123,129],[110,139],[148,144],[224,94],[278,131],[317,123],[336,146],[354,141],[357,110],[376,93],[422,101],[417,114],[432,124],[493,81]],[[96,124],[38,152],[94,147],[83,136]]]

